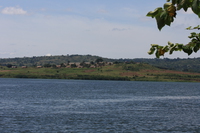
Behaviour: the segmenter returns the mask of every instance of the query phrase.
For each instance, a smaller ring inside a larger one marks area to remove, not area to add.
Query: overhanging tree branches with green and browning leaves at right
[[[157,27],[161,30],[165,25],[170,26],[176,18],[177,12],[183,9],[185,12],[191,8],[194,14],[200,18],[200,1],[199,0],[167,0],[163,7],[158,7],[154,11],[147,13],[148,17],[156,19]],[[188,27],[187,30],[199,30],[200,25]],[[166,52],[172,54],[174,51],[183,51],[188,55],[197,52],[200,49],[200,33],[192,32],[188,37],[191,39],[187,44],[168,42],[166,46],[151,44],[149,54],[155,53],[156,57],[164,56]]]

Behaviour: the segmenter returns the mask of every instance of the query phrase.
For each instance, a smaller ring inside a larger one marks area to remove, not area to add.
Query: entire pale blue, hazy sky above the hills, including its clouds
[[[97,55],[107,58],[155,58],[150,44],[187,44],[199,18],[178,11],[159,31],[149,11],[166,0],[0,0],[0,58],[49,55]],[[162,58],[194,58],[183,52]]]

